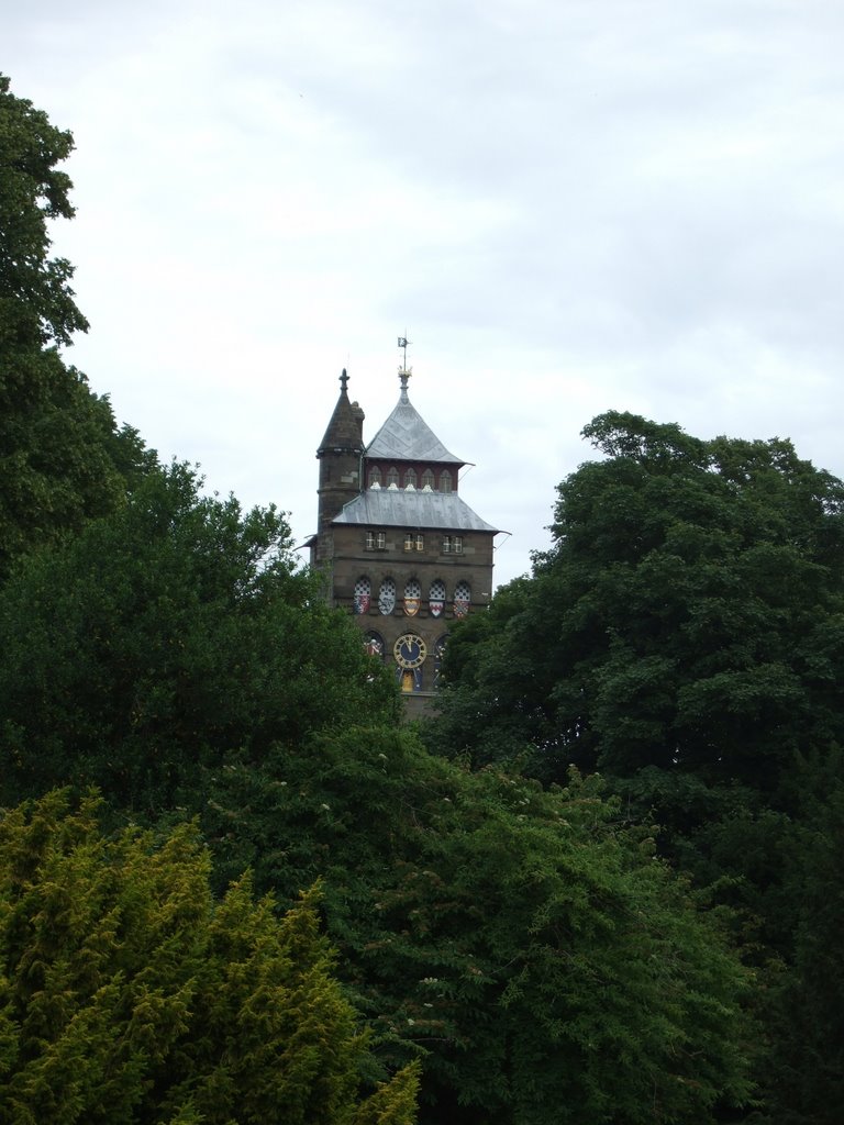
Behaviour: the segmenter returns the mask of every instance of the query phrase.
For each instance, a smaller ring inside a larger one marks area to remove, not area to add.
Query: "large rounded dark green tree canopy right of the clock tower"
[[[774,788],[844,737],[844,485],[788,441],[609,413],[533,576],[456,630],[440,745]]]

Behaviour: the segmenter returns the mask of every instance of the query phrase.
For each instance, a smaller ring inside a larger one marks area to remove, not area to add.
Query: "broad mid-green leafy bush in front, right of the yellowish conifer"
[[[210,793],[223,873],[290,900],[324,880],[378,1056],[424,1059],[423,1120],[708,1122],[747,1098],[748,981],[594,782],[544,792],[361,728],[230,762]]]

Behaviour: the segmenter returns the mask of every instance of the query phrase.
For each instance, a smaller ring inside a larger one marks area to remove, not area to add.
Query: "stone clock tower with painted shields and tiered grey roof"
[[[437,692],[449,622],[490,602],[499,529],[459,495],[468,462],[415,410],[410,376],[405,361],[398,403],[368,446],[363,411],[340,376],[316,453],[318,522],[308,546],[332,604],[354,614],[367,649],[395,668],[410,713],[421,714]]]

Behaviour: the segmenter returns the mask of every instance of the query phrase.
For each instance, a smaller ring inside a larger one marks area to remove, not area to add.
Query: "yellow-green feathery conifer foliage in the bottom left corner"
[[[358,1096],[315,894],[279,919],[208,873],[195,828],[107,840],[90,799],[0,821],[2,1120],[412,1125],[412,1072]]]

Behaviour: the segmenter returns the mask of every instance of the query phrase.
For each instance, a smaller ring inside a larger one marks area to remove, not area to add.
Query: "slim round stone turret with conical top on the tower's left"
[[[363,411],[357,403],[349,402],[348,382],[349,376],[343,368],[340,376],[340,398],[316,451],[320,460],[320,484],[316,489],[320,501],[315,550],[312,555],[312,561],[316,566],[333,557],[332,522],[343,505],[359,495],[361,488]]]

